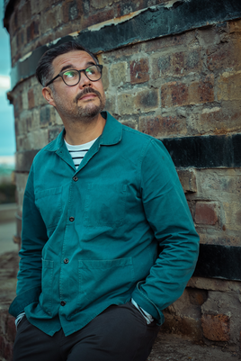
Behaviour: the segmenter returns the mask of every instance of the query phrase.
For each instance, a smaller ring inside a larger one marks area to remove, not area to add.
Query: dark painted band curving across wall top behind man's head
[[[164,5],[154,6],[126,22],[106,25],[98,31],[86,29],[79,33],[76,40],[93,52],[107,51],[240,17],[240,0],[178,1],[169,9]],[[46,50],[68,40],[73,40],[73,37],[63,37],[49,47],[44,45],[34,50],[28,59],[18,61],[12,69],[12,87],[35,73],[37,63]]]

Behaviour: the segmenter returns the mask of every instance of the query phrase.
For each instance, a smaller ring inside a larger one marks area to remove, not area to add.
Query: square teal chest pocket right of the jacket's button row
[[[127,185],[88,185],[84,224],[87,227],[120,227],[124,221]]]

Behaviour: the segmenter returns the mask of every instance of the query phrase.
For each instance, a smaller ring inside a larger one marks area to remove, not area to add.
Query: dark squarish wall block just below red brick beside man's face
[[[158,99],[158,90],[157,89],[145,89],[141,92],[138,92],[135,98],[135,106],[137,110],[141,112],[150,112],[156,110],[159,106]]]

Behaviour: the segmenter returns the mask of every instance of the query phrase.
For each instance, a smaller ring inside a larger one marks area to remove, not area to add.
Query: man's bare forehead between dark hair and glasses
[[[61,68],[67,65],[78,69],[82,67],[85,68],[85,64],[89,62],[94,62],[90,54],[83,50],[73,50],[66,54],[58,55],[58,57],[53,60],[52,66],[55,71],[59,72]]]

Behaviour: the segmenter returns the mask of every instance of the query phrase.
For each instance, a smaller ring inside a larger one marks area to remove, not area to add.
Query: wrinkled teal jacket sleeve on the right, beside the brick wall
[[[132,298],[164,322],[164,310],[177,300],[192,276],[199,236],[173,161],[160,140],[151,140],[140,168],[142,202],[161,252]]]

